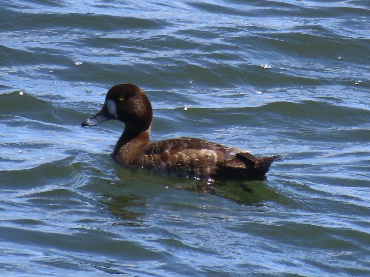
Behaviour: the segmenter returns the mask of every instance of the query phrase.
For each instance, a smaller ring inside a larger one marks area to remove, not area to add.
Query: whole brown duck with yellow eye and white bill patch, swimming
[[[256,157],[238,148],[192,137],[152,142],[151,102],[142,89],[130,83],[112,86],[102,108],[81,126],[97,126],[112,119],[125,124],[111,154],[125,168],[207,182],[255,181],[266,179],[270,165],[281,157]]]

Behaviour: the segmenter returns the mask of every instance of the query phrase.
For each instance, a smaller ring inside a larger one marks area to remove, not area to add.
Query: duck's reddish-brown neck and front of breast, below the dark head
[[[146,130],[137,130],[136,128],[125,126],[125,129],[123,130],[120,139],[117,141],[117,144],[114,147],[114,151],[111,155],[117,155],[118,151],[120,151],[120,149],[127,144],[151,144],[150,128],[151,126],[149,126],[149,128]]]

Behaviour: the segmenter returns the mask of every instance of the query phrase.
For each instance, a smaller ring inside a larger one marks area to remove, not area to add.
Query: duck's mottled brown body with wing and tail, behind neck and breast
[[[264,179],[273,157],[255,157],[238,148],[210,141],[179,137],[161,140],[142,149],[143,161],[155,172],[172,172],[176,175],[195,175],[214,180]]]

